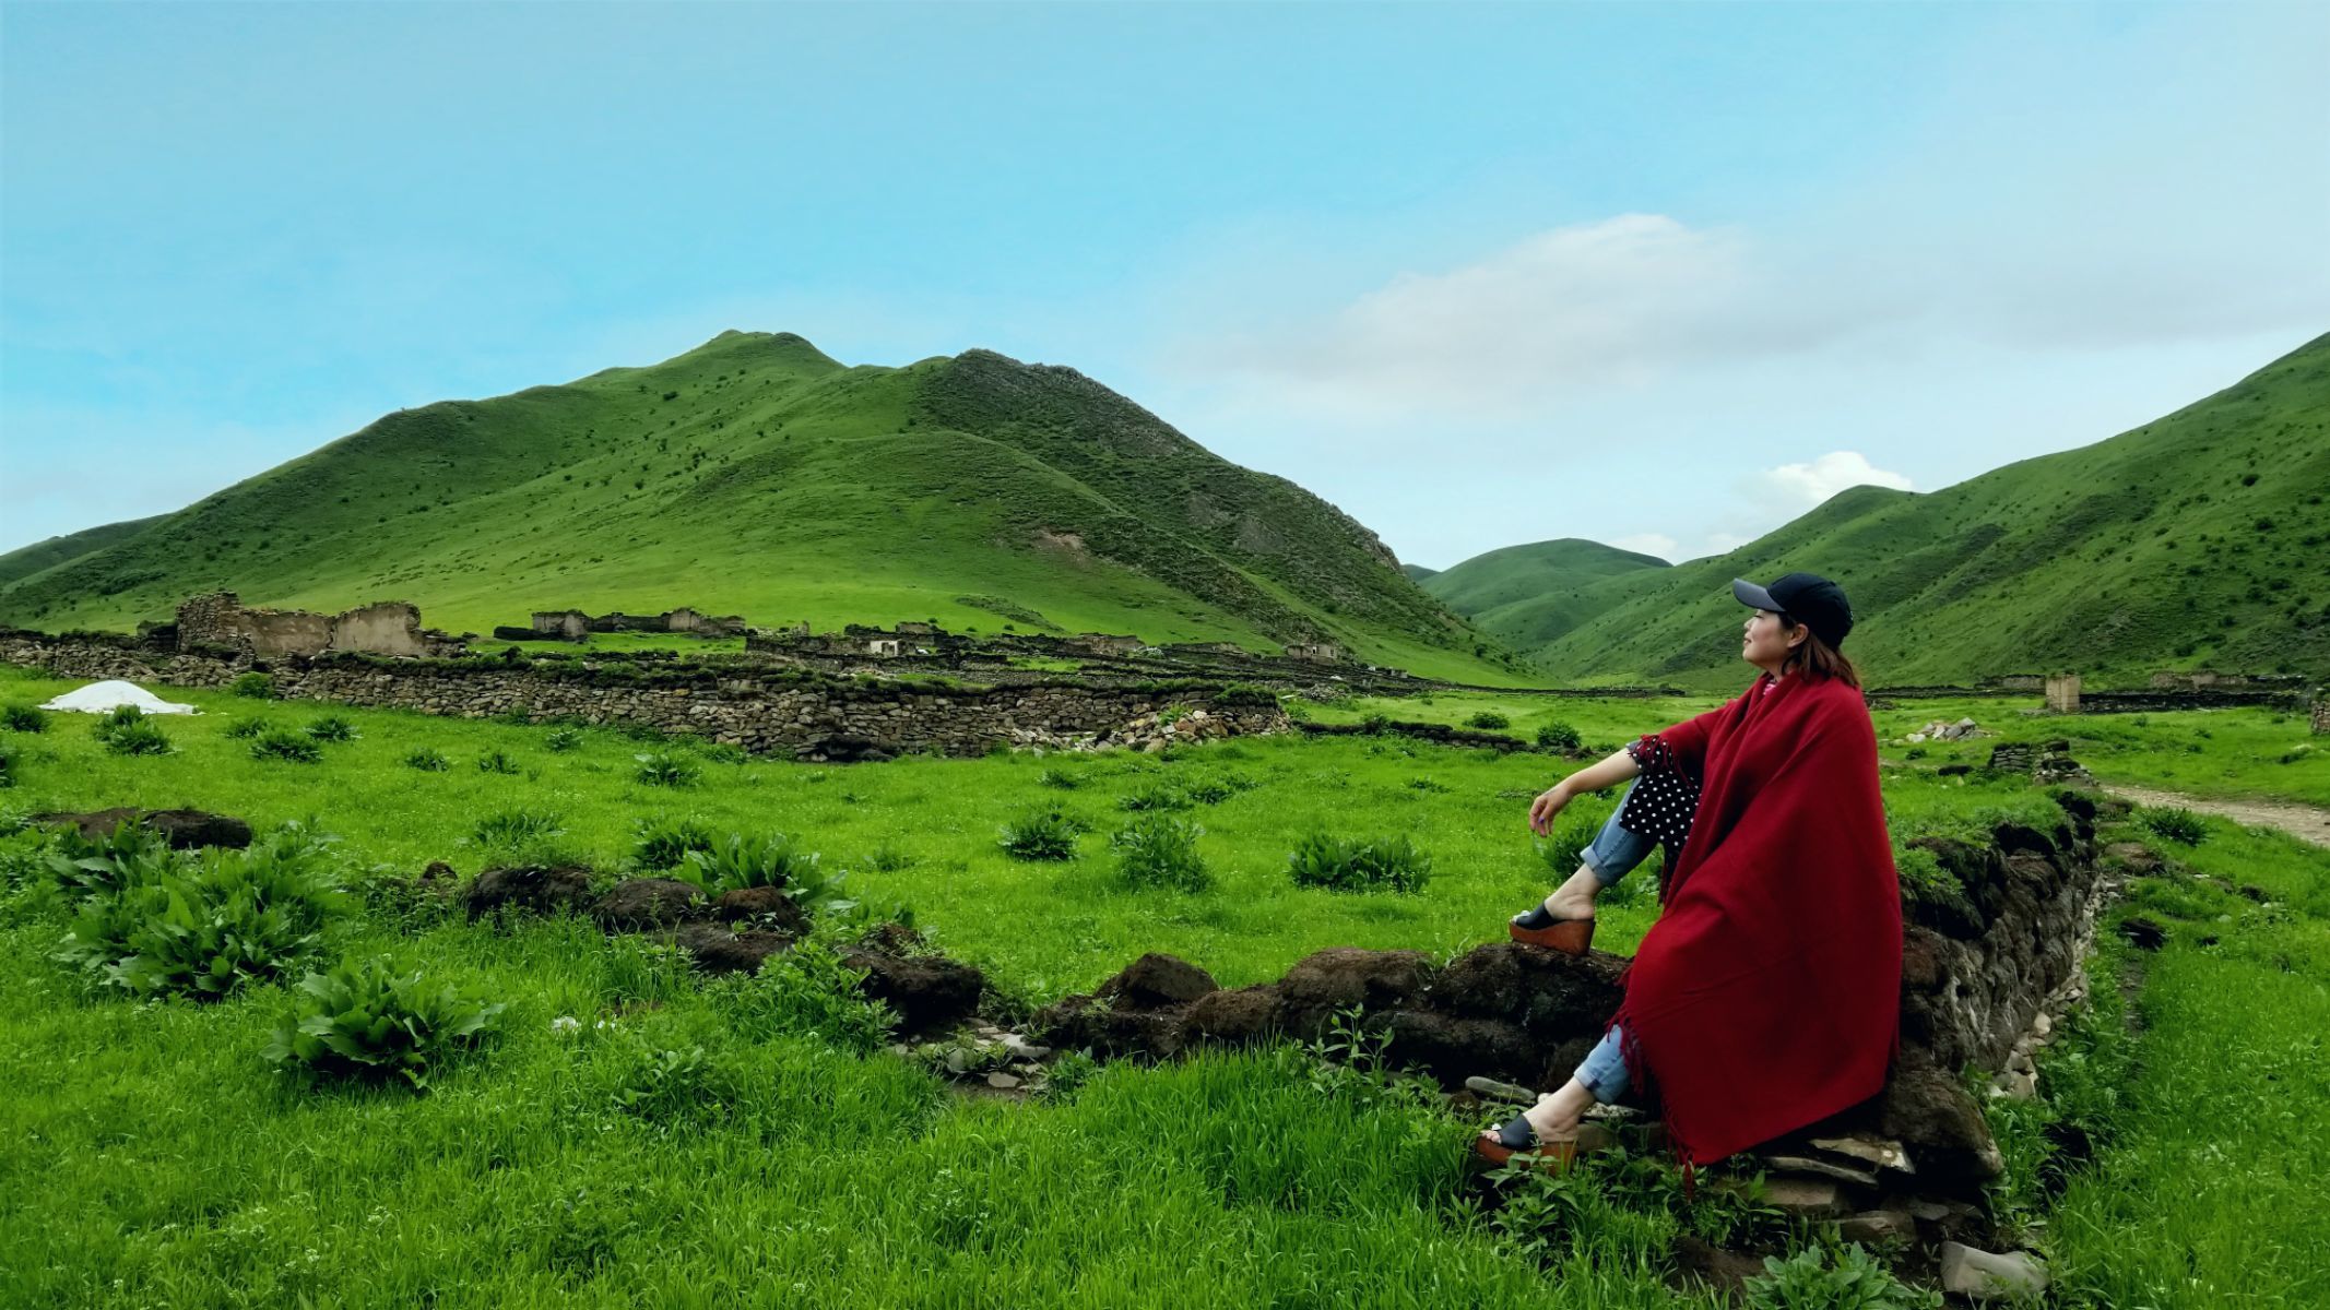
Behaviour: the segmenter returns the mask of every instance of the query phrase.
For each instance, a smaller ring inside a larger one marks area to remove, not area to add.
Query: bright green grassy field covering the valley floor
[[[7,705],[70,686],[0,670]],[[1494,940],[1547,882],[1526,798],[1573,768],[1398,738],[820,768],[610,731],[569,742],[543,726],[170,696],[205,714],[161,724],[165,756],[107,754],[68,714],[0,733],[19,779],[0,805],[312,814],[359,882],[431,859],[475,873],[480,819],[513,812],[557,814],[548,840],[610,873],[648,817],[785,831],[853,891],[909,903],[941,949],[993,973],[1007,1008],[1088,989],[1144,949],[1240,984],[1326,945]],[[1396,705],[1431,717],[1473,698]],[[1622,740],[1703,705],[1561,712],[1589,740]],[[252,759],[228,735],[252,714],[301,726],[326,710],[356,738],[324,742],[315,766]],[[2186,728],[2130,731],[2179,742]],[[2214,759],[2248,740],[2204,745]],[[424,749],[450,768],[403,763]],[[636,756],[662,749],[697,763],[692,786],[636,779]],[[515,773],[478,768],[496,754]],[[1932,756],[1887,754],[1897,835],[2053,810],[2039,789],[1960,784],[1932,775]],[[1181,810],[1205,826],[1214,889],[1121,887],[1104,838],[1132,819],[1123,798],[1174,793],[1216,796]],[[1090,826],[1076,859],[1002,856],[997,828],[1030,807]],[[1295,889],[1286,854],[1312,831],[1407,833],[1433,877],[1419,896]],[[2118,1131],[2064,1168],[2041,1124],[2001,1122],[2013,1198],[2067,1305],[2318,1303],[2302,1189],[2330,1163],[2330,873],[2318,852],[2218,821],[2172,849],[2272,903],[2181,873],[2137,887],[2125,912],[2172,926],[2134,1003],[2148,1026],[2057,1047],[2046,1087],[2062,1105],[2041,1103]],[[1396,1084],[1321,1077],[1293,1049],[1109,1066],[1035,1103],[962,1098],[909,1061],[771,1021],[750,989],[699,984],[629,938],[375,910],[336,926],[324,956],[389,956],[508,1010],[426,1096],[310,1087],[259,1056],[287,989],[107,998],[49,959],[58,921],[37,896],[0,910],[0,1059],[19,1082],[0,1103],[9,1305],[1713,1305],[1666,1284],[1668,1238],[1710,1222],[1680,1205],[1671,1170],[1643,1163],[1666,1182],[1514,1231],[1477,1205],[1470,1124]],[[1650,914],[1645,898],[1610,905],[1598,942],[1624,949]],[[2118,956],[2097,968],[2116,977]],[[562,1031],[562,1017],[578,1021]],[[2125,1073],[2120,1101],[2097,1112],[2060,1061]]]

